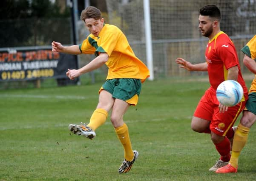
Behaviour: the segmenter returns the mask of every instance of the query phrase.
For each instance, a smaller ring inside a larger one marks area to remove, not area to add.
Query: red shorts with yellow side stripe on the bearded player
[[[210,87],[199,101],[194,116],[209,120],[210,130],[219,136],[225,136],[243,111],[245,103],[246,101],[240,102],[236,106],[228,107],[224,113],[220,113],[216,92]]]

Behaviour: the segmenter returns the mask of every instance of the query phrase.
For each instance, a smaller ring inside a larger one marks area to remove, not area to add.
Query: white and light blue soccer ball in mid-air
[[[217,99],[224,106],[235,106],[244,95],[242,86],[233,80],[227,80],[219,84],[216,90]]]

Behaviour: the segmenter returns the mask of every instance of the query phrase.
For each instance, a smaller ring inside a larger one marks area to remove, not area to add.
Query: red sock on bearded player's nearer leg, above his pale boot
[[[230,141],[228,140],[227,136],[223,139],[222,142],[215,144],[216,150],[221,155],[221,160],[223,162],[229,162],[230,160]]]

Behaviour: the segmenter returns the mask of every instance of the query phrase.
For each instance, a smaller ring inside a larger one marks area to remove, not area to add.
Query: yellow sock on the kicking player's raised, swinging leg
[[[87,125],[94,131],[103,125],[108,117],[108,113],[105,109],[96,109],[91,116],[90,123]]]

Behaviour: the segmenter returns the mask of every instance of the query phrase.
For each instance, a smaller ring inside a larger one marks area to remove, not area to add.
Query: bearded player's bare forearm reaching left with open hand
[[[207,71],[208,65],[206,62],[200,64],[191,64],[183,58],[176,58],[176,63],[179,64],[181,68],[188,71]]]

